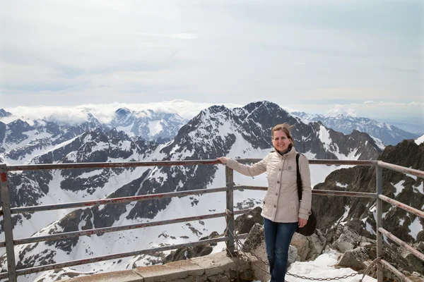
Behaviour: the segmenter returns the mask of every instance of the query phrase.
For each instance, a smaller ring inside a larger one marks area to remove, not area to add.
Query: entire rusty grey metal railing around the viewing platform
[[[238,159],[242,163],[253,163],[259,161],[259,159]],[[204,245],[208,243],[218,243],[225,242],[227,244],[227,250],[230,252],[230,255],[235,255],[235,239],[247,238],[247,234],[235,235],[234,221],[235,215],[245,214],[249,209],[242,209],[239,211],[234,211],[234,190],[267,190],[266,187],[259,186],[247,186],[247,185],[235,185],[233,182],[233,171],[228,166],[225,166],[225,183],[224,188],[209,188],[209,189],[199,189],[199,190],[188,190],[182,192],[168,192],[161,194],[152,194],[152,195],[140,195],[133,197],[119,197],[112,199],[102,199],[102,200],[93,200],[93,201],[83,201],[83,202],[71,202],[64,204],[48,204],[40,205],[34,207],[15,207],[11,208],[10,198],[8,194],[8,172],[9,171],[34,171],[34,170],[51,170],[51,169],[70,169],[70,168],[117,168],[117,167],[137,167],[137,166],[192,166],[192,165],[214,165],[220,164],[216,160],[204,160],[204,161],[138,161],[138,162],[116,162],[116,163],[84,163],[84,164],[31,164],[31,165],[12,165],[7,166],[6,164],[0,164],[0,186],[1,186],[1,205],[2,210],[0,215],[4,218],[4,235],[5,241],[0,242],[0,247],[6,247],[6,256],[8,262],[8,271],[0,273],[0,278],[8,278],[10,282],[16,282],[17,276],[33,274],[41,271],[48,271],[52,269],[60,269],[63,267],[76,266],[81,264],[89,264],[93,262],[102,262],[110,259],[118,259],[122,257],[133,257],[136,255],[151,254],[154,252],[163,252],[166,250],[175,250],[179,247],[187,246],[196,246]],[[326,164],[326,165],[359,165],[359,166],[375,166],[376,168],[376,193],[369,192],[349,192],[349,191],[334,191],[334,190],[312,190],[314,195],[333,195],[333,196],[344,196],[344,197],[368,197],[374,198],[377,200],[377,257],[382,257],[382,235],[386,235],[387,238],[393,240],[395,243],[399,244],[401,247],[406,248],[409,252],[416,257],[424,261],[424,255],[421,252],[418,252],[415,248],[411,247],[404,241],[396,238],[396,236],[389,233],[389,231],[382,228],[382,201],[388,202],[405,209],[407,212],[411,212],[424,218],[424,212],[413,207],[409,207],[406,204],[402,204],[396,200],[390,199],[382,195],[382,168],[388,168],[393,171],[399,171],[401,173],[408,173],[413,176],[418,176],[424,178],[424,171],[418,171],[412,168],[405,168],[403,166],[396,166],[394,164],[387,164],[383,161],[344,161],[344,160],[310,160],[310,164]],[[75,231],[67,233],[57,233],[53,235],[44,235],[38,237],[22,238],[22,239],[13,239],[13,224],[12,224],[12,214],[22,214],[25,212],[41,212],[54,209],[69,209],[76,207],[92,207],[99,206],[103,204],[125,204],[129,202],[139,202],[145,200],[160,200],[170,197],[183,197],[187,195],[201,195],[213,192],[225,192],[226,193],[226,212],[216,213],[216,214],[206,214],[201,216],[191,216],[184,217],[179,219],[171,219],[164,221],[153,221],[148,223],[138,223],[126,226],[114,226],[106,228],[95,228],[86,231]],[[134,252],[124,252],[114,255],[105,255],[101,257],[92,257],[90,259],[78,259],[71,262],[62,262],[57,264],[48,264],[43,266],[35,266],[27,269],[16,269],[16,260],[14,246],[23,245],[28,243],[37,243],[51,240],[64,240],[69,238],[76,238],[85,235],[93,234],[102,234],[109,232],[117,231],[126,231],[136,228],[146,228],[151,226],[161,226],[171,223],[181,223],[186,221],[197,221],[201,219],[213,219],[217,217],[225,216],[226,226],[225,235],[220,238],[214,238],[209,240],[199,240],[191,243],[183,243],[178,245],[168,245],[165,247],[155,247],[146,250],[137,250]],[[383,281],[382,267],[385,267],[392,271],[396,276],[399,276],[402,281],[410,281],[408,277],[398,271],[394,266],[391,266],[389,262],[381,259],[377,264],[377,281]]]

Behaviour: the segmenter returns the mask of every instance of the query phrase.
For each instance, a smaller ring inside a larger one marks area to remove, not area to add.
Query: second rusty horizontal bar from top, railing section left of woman
[[[93,201],[70,202],[70,203],[64,203],[64,204],[45,204],[45,205],[31,206],[31,207],[14,207],[13,209],[11,209],[11,213],[22,214],[24,212],[42,212],[42,211],[49,211],[53,209],[70,209],[74,207],[100,206],[102,204],[127,204],[130,202],[139,202],[139,201],[163,199],[163,198],[170,198],[170,197],[182,197],[182,196],[188,196],[188,195],[225,192],[226,190],[228,190],[228,188],[226,187],[209,188],[209,189],[187,190],[187,191],[168,192],[168,193],[161,193],[161,194],[141,195],[141,196],[132,196],[132,197],[119,197],[119,198],[93,200]]]

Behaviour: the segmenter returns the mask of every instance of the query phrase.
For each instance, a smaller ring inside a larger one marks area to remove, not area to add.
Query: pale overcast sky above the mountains
[[[0,0],[0,108],[269,100],[424,121],[421,0]]]

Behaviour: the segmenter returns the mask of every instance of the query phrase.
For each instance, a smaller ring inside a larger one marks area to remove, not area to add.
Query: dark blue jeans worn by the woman
[[[288,262],[288,247],[298,227],[297,222],[280,223],[264,218],[266,255],[271,282],[283,282]]]

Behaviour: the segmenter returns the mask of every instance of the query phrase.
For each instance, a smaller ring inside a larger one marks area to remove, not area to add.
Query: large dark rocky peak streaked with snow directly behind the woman
[[[122,114],[122,116],[130,116],[125,110]],[[173,140],[163,144],[142,139],[134,140],[125,132],[118,130],[105,132],[100,125],[83,131],[66,141],[60,139],[63,133],[54,135],[57,133],[54,130],[45,131],[46,142],[54,143],[54,147],[52,145],[46,147],[44,152],[33,155],[28,161],[40,164],[177,161],[215,159],[220,156],[261,158],[271,150],[271,128],[273,125],[285,122],[295,125],[293,138],[296,142],[296,149],[304,152],[309,158],[377,159],[379,153],[382,152],[378,140],[366,133],[353,131],[349,135],[343,135],[343,133],[326,128],[320,123],[303,123],[300,118],[293,117],[276,104],[257,102],[235,109],[211,106],[179,128]],[[16,146],[15,149],[19,149],[16,144],[35,145],[30,144],[27,141],[28,138],[23,136],[25,133],[35,130],[34,126],[25,124],[23,121],[16,122],[15,133],[11,130],[13,126],[6,125],[5,137],[1,144],[10,144],[4,140],[13,137],[13,140],[16,140],[13,142]],[[33,139],[35,136],[34,133]],[[324,168],[317,168],[316,171],[312,170],[313,183],[324,180],[326,173],[334,169],[336,169],[334,166],[324,166]],[[11,180],[9,185],[11,205],[20,207],[223,187],[225,186],[224,171],[224,166],[216,165],[92,168],[11,173],[9,178]],[[326,173],[322,173],[323,171]],[[246,178],[235,173],[235,182],[245,185],[266,185],[266,176]],[[235,207],[236,209],[245,209],[260,205],[263,196],[264,192],[262,191],[235,192]],[[59,210],[21,214],[13,217],[13,224],[16,238],[23,238],[31,235],[47,235],[174,219],[175,217],[209,214],[223,210],[225,210],[225,195],[218,193],[88,207],[73,211]],[[224,228],[224,219],[208,219],[206,223],[194,221],[175,224],[172,227],[155,226],[121,233],[105,233],[69,240],[20,245],[16,247],[16,258],[18,267],[37,266],[117,252],[129,252],[163,244],[183,243],[187,240],[199,240],[213,231],[221,233]],[[59,272],[47,271],[43,274],[20,277],[19,281],[54,281],[59,278],[59,273],[64,274],[64,272],[93,272],[105,271],[105,269],[112,271],[132,268],[160,261],[160,256],[161,254],[158,256],[144,255],[76,266]],[[5,262],[5,256],[1,257],[0,265],[3,269],[6,267]]]

